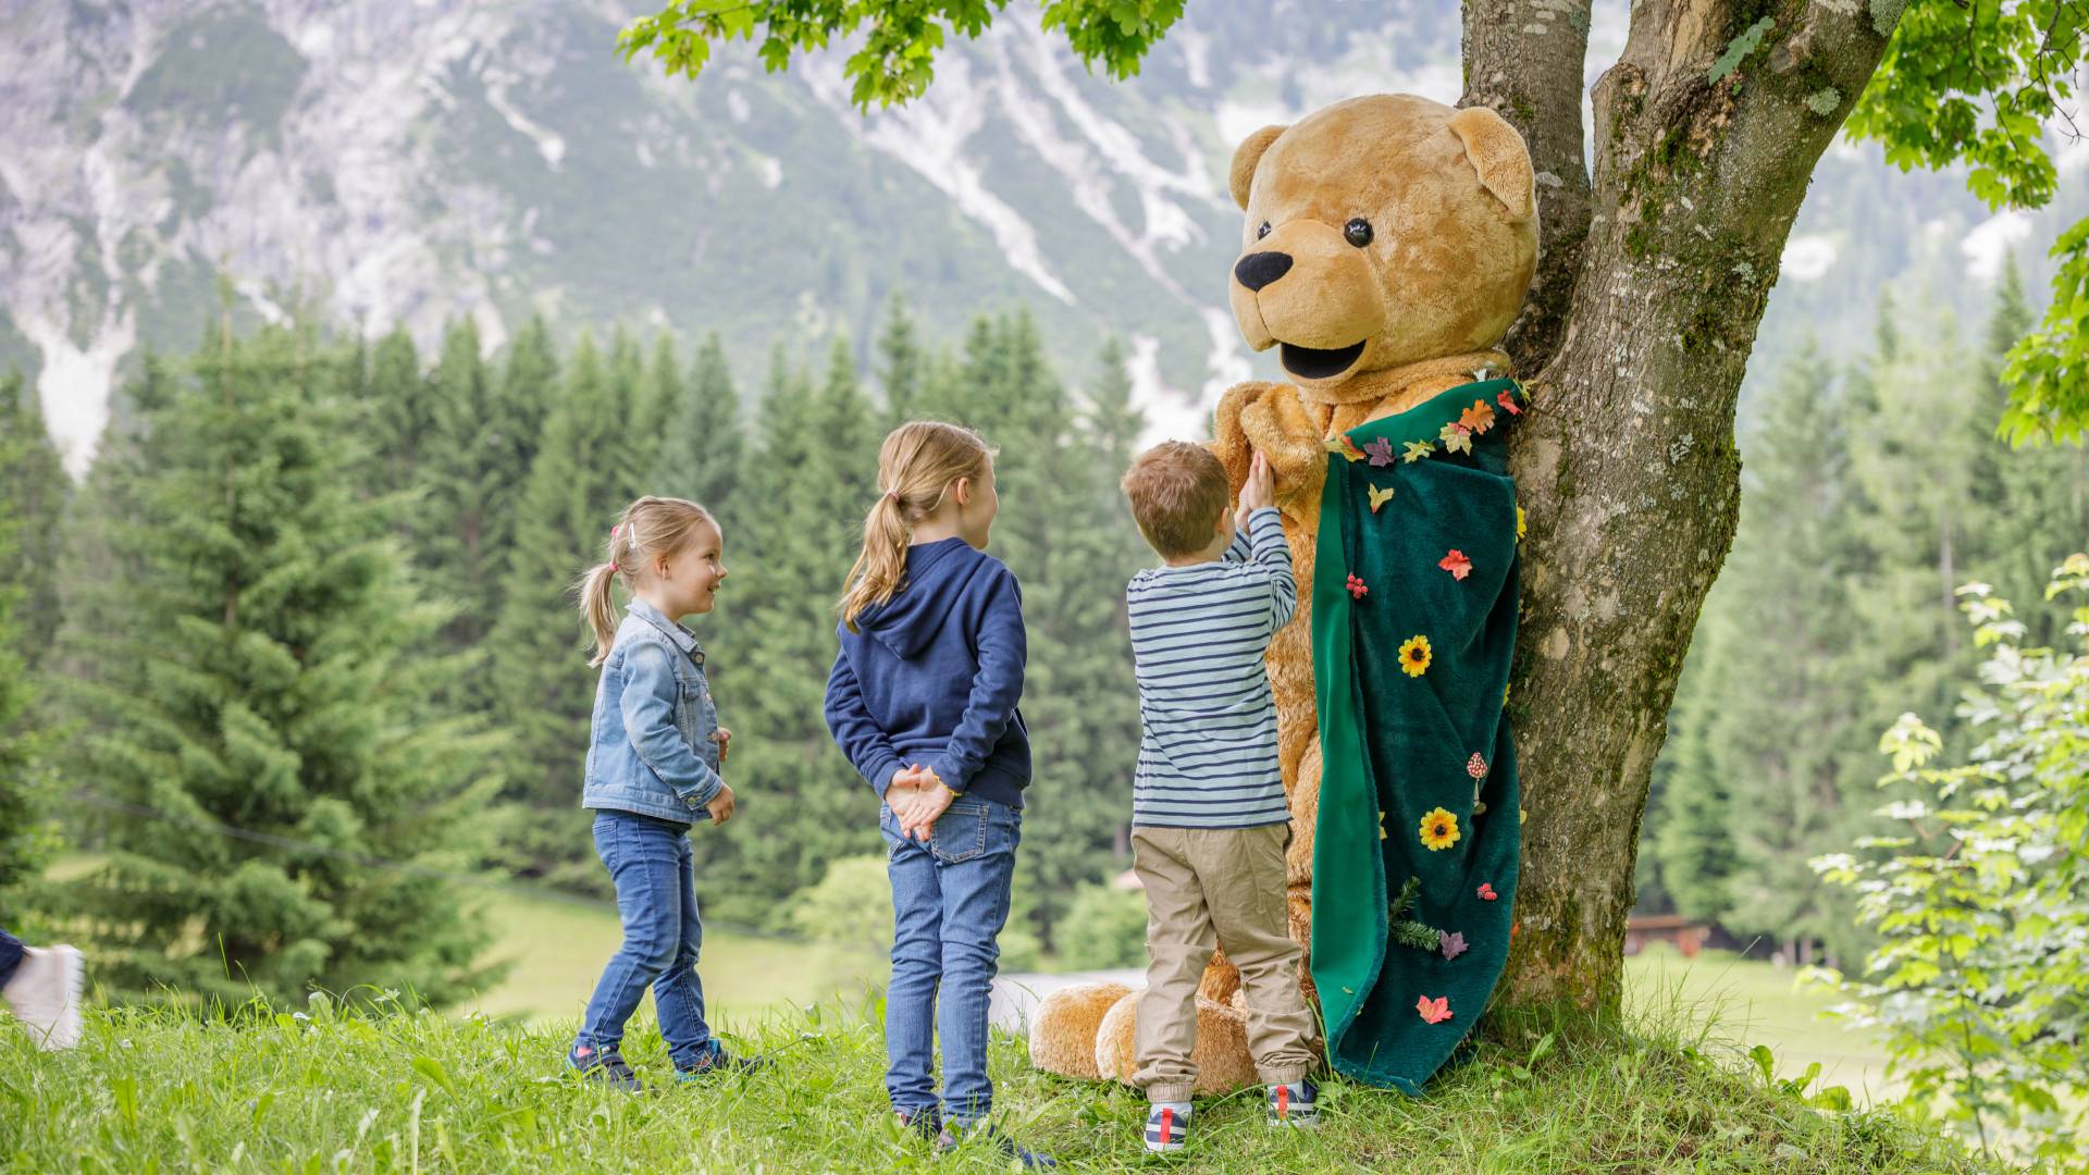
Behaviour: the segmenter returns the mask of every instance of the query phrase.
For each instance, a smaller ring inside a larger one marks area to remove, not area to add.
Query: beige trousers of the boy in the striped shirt
[[[1139,997],[1139,1073],[1151,1102],[1189,1102],[1197,1083],[1197,983],[1224,947],[1247,997],[1247,1052],[1266,1083],[1301,1081],[1314,1020],[1299,993],[1299,947],[1285,916],[1287,824],[1132,828],[1147,886],[1147,991]]]

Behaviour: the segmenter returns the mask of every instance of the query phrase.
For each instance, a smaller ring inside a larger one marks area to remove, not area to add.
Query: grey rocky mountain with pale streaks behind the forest
[[[608,0],[10,0],[0,368],[36,372],[79,468],[111,383],[144,347],[190,345],[219,274],[242,316],[305,305],[424,343],[470,314],[499,347],[533,309],[562,332],[719,330],[748,383],[773,345],[867,349],[902,293],[942,339],[1030,305],[1070,376],[1122,335],[1155,427],[1195,433],[1260,364],[1226,312],[1233,144],[1358,92],[1454,100],[1460,67],[1454,4],[1189,10],[1141,77],[1107,84],[1017,4],[925,100],[863,117],[842,52],[767,75],[731,46],[698,84],[623,65],[631,13]],[[1623,27],[1623,4],[1598,6],[1590,79]],[[2085,211],[2072,199],[1989,217],[1951,176],[1836,148],[1757,370],[1801,330],[1861,335],[1886,284],[1976,307],[2010,247]]]

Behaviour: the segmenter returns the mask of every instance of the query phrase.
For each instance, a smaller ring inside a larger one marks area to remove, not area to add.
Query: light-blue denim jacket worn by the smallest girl
[[[581,807],[691,824],[719,778],[719,709],[696,633],[631,600],[595,686]]]

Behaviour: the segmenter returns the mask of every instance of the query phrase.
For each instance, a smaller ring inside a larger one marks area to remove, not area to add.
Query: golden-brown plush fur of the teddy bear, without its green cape
[[[1299,581],[1297,617],[1270,642],[1268,667],[1291,801],[1291,937],[1310,949],[1320,799],[1310,602],[1327,439],[1481,372],[1508,374],[1500,343],[1538,268],[1538,192],[1523,136],[1500,115],[1410,94],[1258,130],[1235,151],[1228,188],[1247,213],[1233,316],[1253,349],[1278,347],[1291,383],[1228,389],[1212,450],[1235,489],[1253,450],[1268,454]],[[1312,999],[1304,951],[1299,985]],[[1130,1079],[1136,997],[1122,985],[1053,993],[1030,1024],[1032,1064]],[[1197,999],[1195,1058],[1199,1093],[1255,1077],[1239,976],[1222,958]]]

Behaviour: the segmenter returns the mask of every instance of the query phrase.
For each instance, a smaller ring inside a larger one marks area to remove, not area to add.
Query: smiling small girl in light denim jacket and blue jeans
[[[719,769],[733,734],[704,679],[704,650],[681,617],[708,613],[725,583],[725,537],[696,502],[639,498],[610,531],[608,560],[581,577],[581,613],[602,667],[581,807],[595,813],[595,851],[616,882],[625,945],[610,958],[566,1064],[616,1089],[641,1089],[625,1064],[625,1020],[654,989],[660,1035],[677,1081],[756,1068],[733,1058],[704,1022],[696,955],[689,824],[733,817],[733,788]],[[631,604],[618,619],[610,588],[623,575]]]

